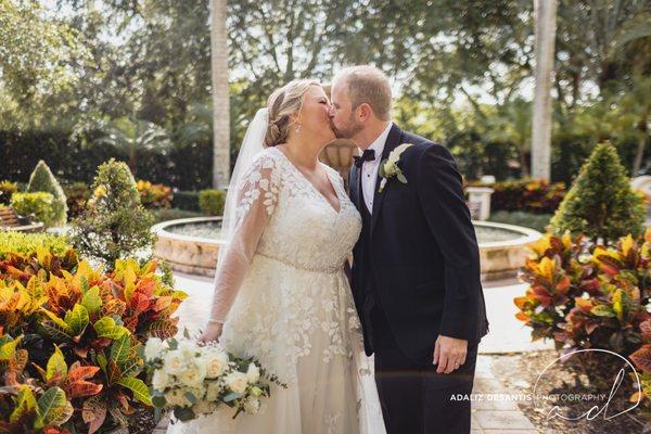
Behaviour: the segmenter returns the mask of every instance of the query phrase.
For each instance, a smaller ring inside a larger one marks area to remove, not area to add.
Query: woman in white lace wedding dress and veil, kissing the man
[[[210,318],[202,342],[256,357],[288,385],[257,414],[232,410],[168,433],[382,433],[344,263],[361,218],[318,159],[334,140],[316,80],[275,91],[248,126],[227,196]]]

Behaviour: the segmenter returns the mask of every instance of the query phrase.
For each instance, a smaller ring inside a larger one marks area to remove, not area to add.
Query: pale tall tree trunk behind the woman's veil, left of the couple
[[[210,0],[210,61],[213,78],[213,187],[230,179],[230,104],[226,1]]]

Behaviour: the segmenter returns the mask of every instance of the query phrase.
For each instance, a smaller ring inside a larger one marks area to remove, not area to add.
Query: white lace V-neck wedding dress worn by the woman
[[[344,261],[361,229],[340,175],[322,165],[337,212],[276,148],[258,153],[240,183],[238,229],[218,272],[232,305],[221,335],[288,387],[272,386],[257,414],[228,407],[168,433],[383,433],[372,363]],[[237,292],[232,289],[235,288]]]

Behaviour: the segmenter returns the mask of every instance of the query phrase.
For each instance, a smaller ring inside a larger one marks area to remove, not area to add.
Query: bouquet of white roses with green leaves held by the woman
[[[152,404],[171,410],[181,421],[208,414],[221,405],[233,408],[233,419],[256,413],[271,383],[285,386],[255,361],[226,353],[218,344],[199,345],[188,333],[181,339],[148,340],[143,357],[153,371]]]

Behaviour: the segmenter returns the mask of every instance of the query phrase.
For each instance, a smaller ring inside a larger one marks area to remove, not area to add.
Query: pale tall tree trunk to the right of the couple
[[[551,173],[551,86],[557,0],[535,0],[536,93],[532,128],[532,175],[546,181]]]

